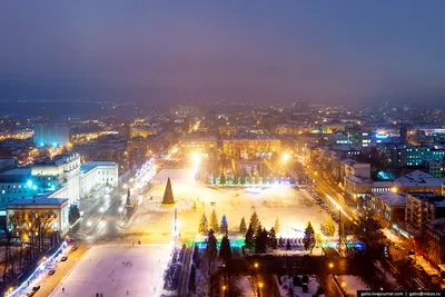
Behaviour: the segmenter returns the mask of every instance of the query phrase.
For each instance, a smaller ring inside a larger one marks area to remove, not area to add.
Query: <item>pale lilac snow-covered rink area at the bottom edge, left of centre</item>
[[[95,246],[51,296],[158,296],[169,257],[168,245]]]

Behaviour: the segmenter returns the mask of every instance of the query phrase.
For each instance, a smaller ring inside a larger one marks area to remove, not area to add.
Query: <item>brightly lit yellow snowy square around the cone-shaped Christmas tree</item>
[[[170,177],[178,206],[179,232],[196,234],[202,214],[209,219],[215,208],[218,220],[226,215],[229,231],[237,231],[245,217],[257,211],[261,225],[267,229],[278,217],[283,237],[303,237],[303,231],[312,221],[316,231],[325,222],[326,211],[315,202],[306,190],[295,190],[288,186],[274,186],[260,192],[241,188],[214,188],[195,181],[194,169],[162,169],[151,181],[151,190],[128,224],[128,231],[170,232],[172,230],[172,209],[160,205],[167,178]],[[211,206],[214,202],[214,206]],[[194,208],[196,206],[196,208]]]

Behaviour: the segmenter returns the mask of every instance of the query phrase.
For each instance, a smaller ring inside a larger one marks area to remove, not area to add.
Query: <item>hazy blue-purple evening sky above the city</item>
[[[445,101],[445,1],[0,2],[0,99]]]

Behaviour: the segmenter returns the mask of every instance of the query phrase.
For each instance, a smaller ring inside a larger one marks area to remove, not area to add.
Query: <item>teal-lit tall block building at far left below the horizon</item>
[[[56,123],[34,126],[33,141],[38,147],[60,147],[69,143],[69,128]]]

